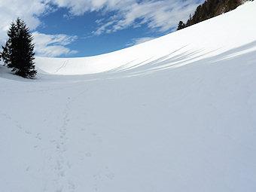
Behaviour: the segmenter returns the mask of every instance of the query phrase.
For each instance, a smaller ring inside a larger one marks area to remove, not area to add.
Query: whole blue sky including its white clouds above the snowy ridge
[[[37,56],[94,56],[175,31],[194,0],[0,0],[0,43],[12,20],[33,32]]]

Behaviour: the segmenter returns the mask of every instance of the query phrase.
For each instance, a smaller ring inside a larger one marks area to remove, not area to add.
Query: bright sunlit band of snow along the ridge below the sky
[[[143,44],[99,56],[36,57],[36,67],[49,74],[83,75],[126,70],[148,63],[152,66],[165,60],[169,67],[182,66],[256,41],[255,10],[255,1],[246,2],[227,14]]]

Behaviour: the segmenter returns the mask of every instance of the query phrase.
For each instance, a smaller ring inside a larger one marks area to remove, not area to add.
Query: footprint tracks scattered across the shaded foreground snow
[[[55,178],[53,178],[53,183],[56,185],[56,192],[62,192],[64,191],[75,191],[75,184],[73,181],[69,180],[66,177],[66,170],[72,168],[72,163],[67,161],[65,159],[65,152],[67,151],[66,148],[66,142],[68,141],[69,137],[67,136],[67,126],[69,125],[69,105],[71,104],[72,100],[68,97],[68,101],[66,102],[66,108],[63,111],[63,120],[62,120],[62,126],[59,128],[59,139],[50,140],[50,143],[53,144],[53,148],[55,148],[55,153],[50,155],[48,157],[49,163],[52,165],[51,170],[54,172]],[[15,126],[17,126],[18,129],[22,130],[23,133],[32,136],[35,139],[38,139],[38,141],[42,140],[41,133],[32,133],[30,130],[26,130],[24,126],[21,125],[21,123],[18,120],[14,120],[10,115],[8,114],[2,114],[6,119],[10,120],[12,123],[14,123]],[[82,129],[84,131],[85,129]],[[93,134],[93,136],[96,136],[96,133]],[[38,145],[34,145],[34,148],[38,148]],[[86,153],[85,157],[91,157],[91,153]],[[29,171],[30,166],[26,167],[26,171]],[[108,168],[106,168],[107,170]],[[114,173],[107,171],[108,173],[105,174],[105,177],[108,179],[114,178]],[[97,181],[100,178],[102,179],[101,174],[93,175],[93,178]],[[63,186],[65,184],[65,186]],[[68,190],[67,190],[67,188]],[[95,190],[98,190],[97,184],[95,186]],[[44,191],[47,191],[47,184],[44,186]]]

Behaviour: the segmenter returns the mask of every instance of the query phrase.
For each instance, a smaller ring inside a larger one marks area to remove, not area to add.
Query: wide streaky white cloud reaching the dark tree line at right
[[[52,0],[59,7],[69,8],[70,14],[78,16],[90,11],[113,11],[114,17],[97,20],[94,35],[116,32],[130,26],[146,24],[150,29],[166,32],[177,27],[179,20],[187,20],[200,2],[195,0]]]

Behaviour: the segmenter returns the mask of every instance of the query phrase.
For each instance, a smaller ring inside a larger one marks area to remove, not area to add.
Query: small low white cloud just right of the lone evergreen
[[[76,50],[70,50],[65,47],[71,44],[78,37],[69,35],[46,35],[39,32],[33,32],[35,41],[35,53],[38,56],[61,56],[77,53]]]

